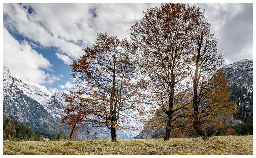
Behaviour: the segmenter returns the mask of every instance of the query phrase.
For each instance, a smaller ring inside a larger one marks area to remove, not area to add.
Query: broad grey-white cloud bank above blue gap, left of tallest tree
[[[3,5],[5,27],[43,47],[57,48],[58,58],[70,64],[83,53],[83,48],[94,43],[96,32],[129,38],[130,26],[143,17],[146,7],[156,4]],[[34,11],[31,14],[30,7]]]

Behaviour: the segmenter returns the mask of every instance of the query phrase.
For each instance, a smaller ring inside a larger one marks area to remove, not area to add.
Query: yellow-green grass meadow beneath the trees
[[[3,142],[4,155],[253,155],[253,136]]]

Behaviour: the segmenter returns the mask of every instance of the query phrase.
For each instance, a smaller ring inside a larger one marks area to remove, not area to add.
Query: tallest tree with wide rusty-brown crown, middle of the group
[[[148,90],[166,116],[164,141],[170,138],[173,114],[184,107],[175,107],[182,98],[175,100],[174,96],[182,91],[187,76],[199,13],[199,8],[187,4],[162,4],[147,9],[140,23],[131,28],[141,72],[151,81]]]

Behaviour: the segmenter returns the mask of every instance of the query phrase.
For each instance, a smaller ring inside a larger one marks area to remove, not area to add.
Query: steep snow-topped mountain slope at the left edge
[[[19,89],[6,66],[3,67],[3,113],[4,117],[28,123],[42,134],[53,134],[60,128],[40,103]]]

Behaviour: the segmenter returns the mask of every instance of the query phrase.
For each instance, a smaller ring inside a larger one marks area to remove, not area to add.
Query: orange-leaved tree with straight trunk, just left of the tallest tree
[[[116,129],[136,130],[129,121],[145,112],[140,104],[145,84],[136,76],[134,48],[127,39],[98,33],[95,44],[84,51],[71,68],[77,88],[84,92],[87,124],[107,127],[116,142]]]

